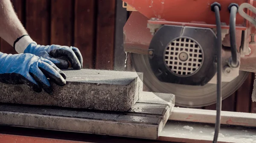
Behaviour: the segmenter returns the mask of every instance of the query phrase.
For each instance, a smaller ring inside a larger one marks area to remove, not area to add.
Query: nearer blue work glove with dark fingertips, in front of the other
[[[55,64],[29,53],[12,55],[0,52],[0,65],[0,82],[26,84],[37,93],[43,88],[48,94],[53,94],[49,80],[60,86],[66,84],[65,74]]]

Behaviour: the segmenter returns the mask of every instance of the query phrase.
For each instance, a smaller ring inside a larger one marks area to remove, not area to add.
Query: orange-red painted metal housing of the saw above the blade
[[[124,50],[131,53],[148,54],[148,46],[152,35],[147,24],[184,25],[203,28],[215,28],[214,12],[209,10],[215,0],[123,0],[137,11],[132,12],[124,27]],[[230,13],[226,7],[230,3],[250,3],[256,7],[253,0],[218,0],[221,3],[221,22],[223,29],[229,28]],[[250,11],[245,11],[251,17],[256,17]],[[157,20],[150,20],[156,17]],[[250,47],[250,55],[241,57],[240,70],[256,72],[256,44],[249,45],[250,34],[256,33],[255,27],[237,14],[236,44],[241,43],[241,31],[245,30],[245,41]],[[255,37],[256,41],[256,37]],[[230,46],[230,36],[226,35],[222,44]]]

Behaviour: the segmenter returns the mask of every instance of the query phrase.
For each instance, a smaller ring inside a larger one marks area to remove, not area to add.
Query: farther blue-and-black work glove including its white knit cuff
[[[60,45],[38,45],[28,35],[18,38],[14,42],[14,48],[18,53],[31,53],[48,59],[60,69],[73,67],[75,70],[80,70],[83,65],[83,58],[78,48]]]

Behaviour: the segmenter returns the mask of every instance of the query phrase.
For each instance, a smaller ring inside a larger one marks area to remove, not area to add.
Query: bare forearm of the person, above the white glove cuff
[[[10,0],[0,0],[0,37],[13,46],[15,40],[27,34]]]

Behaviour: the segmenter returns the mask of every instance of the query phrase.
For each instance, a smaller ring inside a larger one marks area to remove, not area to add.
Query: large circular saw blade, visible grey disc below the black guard
[[[175,95],[175,105],[182,107],[203,107],[216,103],[216,84],[190,86],[171,84],[159,81],[151,71],[148,55],[131,53],[132,64],[137,72],[143,72],[143,83],[155,93],[172,93]],[[239,71],[239,76],[233,81],[222,82],[222,99],[233,94],[246,80],[248,72]]]

